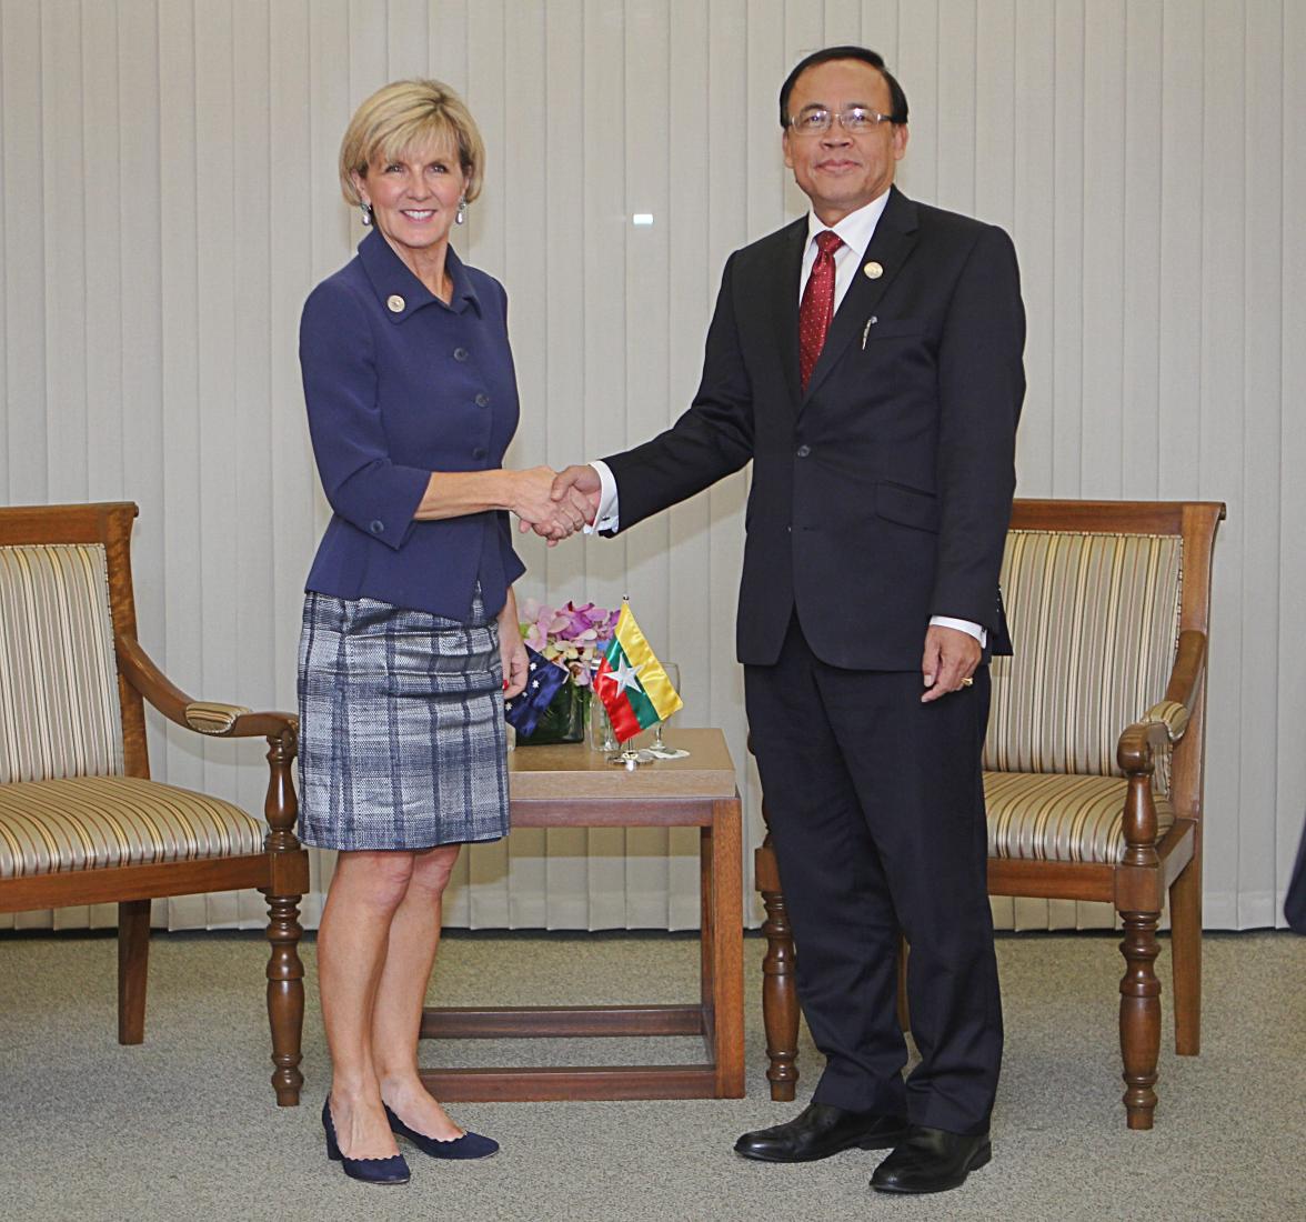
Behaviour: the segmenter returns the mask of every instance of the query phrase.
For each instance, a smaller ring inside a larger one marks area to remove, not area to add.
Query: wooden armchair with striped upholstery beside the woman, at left
[[[0,508],[0,912],[118,903],[118,1039],[145,1038],[150,900],[268,897],[277,1103],[299,1102],[303,965],[295,718],[192,701],[136,639],[129,503]],[[268,740],[268,827],[149,779],[144,702],[178,725]]]

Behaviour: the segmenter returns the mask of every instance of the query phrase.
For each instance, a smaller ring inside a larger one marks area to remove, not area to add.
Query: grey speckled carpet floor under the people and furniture
[[[409,1151],[410,1184],[355,1184],[328,1164],[317,1121],[328,1061],[313,949],[304,1100],[277,1108],[256,938],[157,936],[136,1048],[115,1043],[111,938],[0,940],[0,1218],[1306,1219],[1306,938],[1293,934],[1208,936],[1203,1053],[1174,1055],[1166,1005],[1149,1133],[1128,1132],[1119,1103],[1115,940],[999,938],[1007,1055],[994,1162],[957,1192],[919,1198],[871,1193],[871,1153],[791,1167],[731,1153],[739,1132],[803,1106],[818,1064],[804,1034],[798,1102],[769,1100],[755,937],[746,1099],[452,1106],[503,1151],[470,1164]],[[1158,970],[1165,980],[1168,946]],[[691,937],[454,934],[432,999],[674,1002],[695,995],[696,971]],[[682,1039],[424,1047],[445,1064],[701,1059],[701,1042]]]

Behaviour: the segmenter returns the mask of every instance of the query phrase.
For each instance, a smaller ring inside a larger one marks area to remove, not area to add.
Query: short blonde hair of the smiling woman
[[[367,176],[374,161],[393,161],[405,153],[448,141],[458,150],[470,203],[481,193],[486,146],[471,112],[440,81],[392,81],[354,111],[340,142],[340,190],[345,200],[362,203],[354,175]]]

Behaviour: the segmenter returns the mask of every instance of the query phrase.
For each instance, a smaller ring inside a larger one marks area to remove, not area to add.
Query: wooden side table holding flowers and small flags
[[[718,729],[682,729],[686,759],[628,772],[584,744],[509,757],[515,827],[697,826],[701,997],[687,1005],[428,1006],[422,1038],[701,1035],[696,1065],[424,1069],[438,1099],[739,1099],[743,1097],[743,895],[734,763]]]

